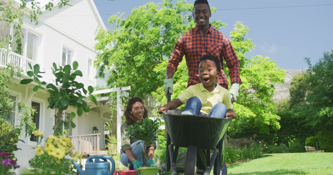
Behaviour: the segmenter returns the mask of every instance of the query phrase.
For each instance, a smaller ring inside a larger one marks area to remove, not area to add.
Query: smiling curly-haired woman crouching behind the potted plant
[[[153,162],[154,151],[156,148],[156,142],[147,146],[147,150],[144,150],[143,144],[137,144],[141,140],[135,140],[133,137],[126,137],[126,129],[128,126],[137,123],[139,120],[142,122],[143,118],[148,117],[148,111],[144,107],[143,101],[140,97],[133,97],[128,100],[125,110],[126,121],[122,123],[121,137],[122,137],[122,149],[120,155],[120,161],[124,166],[130,164],[130,169],[138,170],[138,167],[142,167],[143,157],[142,152],[148,153],[149,159],[147,160],[149,166],[155,166]]]

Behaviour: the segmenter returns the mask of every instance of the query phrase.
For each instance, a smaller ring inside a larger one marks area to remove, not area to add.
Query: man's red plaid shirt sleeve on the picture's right
[[[229,68],[230,83],[241,84],[239,73],[239,59],[233,49],[230,40],[225,37],[222,47],[222,56]]]

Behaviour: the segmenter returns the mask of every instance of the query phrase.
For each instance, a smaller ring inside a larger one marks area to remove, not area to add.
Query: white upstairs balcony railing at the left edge
[[[21,68],[24,75],[27,75],[27,72],[31,71],[28,63],[30,63],[32,67],[34,67],[35,64],[38,64],[37,61],[23,57],[22,55],[19,55],[15,52],[8,51],[5,48],[0,48],[0,67],[7,66],[9,63],[13,63],[15,68]],[[43,70],[42,67],[40,70]]]

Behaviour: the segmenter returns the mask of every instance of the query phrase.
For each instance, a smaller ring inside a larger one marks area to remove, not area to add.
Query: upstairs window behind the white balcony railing
[[[16,38],[13,37],[13,46],[12,51],[20,54],[24,57],[37,61],[37,52],[38,52],[38,35],[32,33],[27,29],[22,29],[22,32],[19,32],[23,37],[21,39],[21,46],[16,44]],[[21,48],[19,51],[18,48]]]

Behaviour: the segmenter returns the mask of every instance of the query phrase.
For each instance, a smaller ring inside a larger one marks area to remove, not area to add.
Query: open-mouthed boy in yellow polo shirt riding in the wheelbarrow
[[[220,75],[218,70],[221,70],[220,60],[212,55],[203,55],[199,63],[201,83],[188,87],[175,100],[161,106],[159,113],[186,104],[181,114],[236,118],[229,91],[216,83],[216,78]]]

